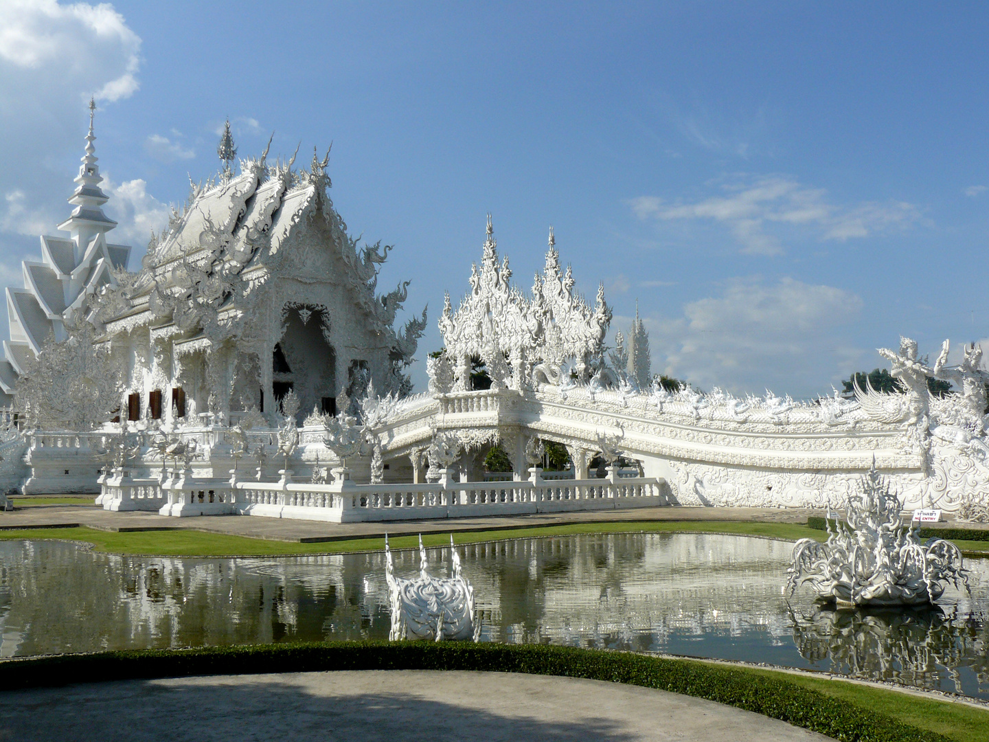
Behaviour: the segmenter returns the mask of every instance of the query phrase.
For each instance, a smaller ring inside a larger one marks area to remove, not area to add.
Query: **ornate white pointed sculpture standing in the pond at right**
[[[921,605],[941,598],[948,582],[967,586],[961,552],[950,541],[922,544],[900,522],[900,503],[875,467],[862,477],[860,497],[849,498],[848,525],[828,511],[828,541],[802,538],[793,547],[789,589],[809,585],[839,605]]]

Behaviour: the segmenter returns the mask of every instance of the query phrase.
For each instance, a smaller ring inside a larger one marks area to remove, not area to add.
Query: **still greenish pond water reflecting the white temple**
[[[787,600],[792,544],[628,533],[458,547],[482,640],[547,642],[827,670],[989,698],[989,561],[971,595],[926,611]],[[449,549],[430,549],[445,574]],[[418,569],[395,552],[396,571]],[[102,649],[388,638],[381,553],[128,557],[58,541],[0,541],[0,657]]]

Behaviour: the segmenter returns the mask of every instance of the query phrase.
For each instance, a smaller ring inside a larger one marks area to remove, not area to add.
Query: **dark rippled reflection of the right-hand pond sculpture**
[[[960,670],[978,688],[989,685],[985,631],[972,617],[945,615],[940,607],[832,610],[793,615],[793,641],[813,663],[853,678],[944,690],[946,675],[963,693]]]

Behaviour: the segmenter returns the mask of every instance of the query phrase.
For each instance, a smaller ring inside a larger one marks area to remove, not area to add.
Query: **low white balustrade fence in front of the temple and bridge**
[[[106,510],[157,510],[163,515],[245,514],[334,523],[508,515],[526,512],[617,510],[670,505],[663,480],[619,477],[550,480],[540,469],[521,482],[356,485],[346,473],[330,485],[207,480],[179,472],[159,480],[110,477],[100,502]],[[337,470],[335,474],[339,475]]]

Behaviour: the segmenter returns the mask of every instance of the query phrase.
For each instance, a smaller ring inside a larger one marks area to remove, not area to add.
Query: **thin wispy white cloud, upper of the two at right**
[[[709,221],[724,225],[751,255],[779,255],[783,237],[795,229],[820,240],[844,241],[891,228],[905,229],[920,219],[917,207],[903,202],[864,202],[854,206],[829,203],[823,189],[802,186],[795,179],[771,175],[736,179],[721,186],[723,195],[695,203],[667,203],[656,196],[631,201],[640,219]]]

